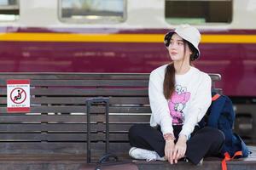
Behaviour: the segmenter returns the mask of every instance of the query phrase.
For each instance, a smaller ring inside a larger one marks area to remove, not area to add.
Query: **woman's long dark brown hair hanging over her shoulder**
[[[192,65],[191,61],[195,60],[197,50],[195,47],[188,41],[184,40],[184,54],[186,53],[186,44],[189,45],[189,49],[192,51],[192,54],[190,55],[189,58],[189,64]],[[164,80],[164,95],[166,99],[170,99],[175,88],[175,68],[174,68],[174,63],[170,63],[166,67],[166,74],[165,74],[165,80]]]

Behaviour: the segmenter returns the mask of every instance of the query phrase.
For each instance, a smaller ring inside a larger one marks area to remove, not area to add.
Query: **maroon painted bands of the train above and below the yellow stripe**
[[[0,33],[162,34],[163,29],[46,29],[1,27]],[[256,30],[201,30],[202,35],[255,35]],[[256,43],[201,43],[201,71],[219,73],[217,84],[231,97],[256,97]],[[1,72],[149,73],[170,61],[163,42],[22,42],[0,41]]]

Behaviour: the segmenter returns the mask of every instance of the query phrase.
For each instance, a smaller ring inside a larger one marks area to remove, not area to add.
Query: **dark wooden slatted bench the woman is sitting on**
[[[210,74],[212,88],[220,80]],[[128,158],[128,129],[148,123],[148,74],[0,73],[0,165],[5,161],[86,162],[85,100],[109,98],[110,152]],[[31,112],[8,113],[6,81],[29,79]],[[102,105],[91,108],[91,156],[104,154]],[[5,162],[6,163],[6,162]],[[5,166],[8,166],[7,164]]]

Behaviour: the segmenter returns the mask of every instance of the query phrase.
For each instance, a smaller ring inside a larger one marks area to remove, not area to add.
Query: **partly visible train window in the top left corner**
[[[0,21],[18,20],[19,17],[19,0],[0,0]]]

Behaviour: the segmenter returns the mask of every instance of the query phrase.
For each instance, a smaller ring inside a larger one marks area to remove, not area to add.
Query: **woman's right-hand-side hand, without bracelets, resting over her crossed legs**
[[[182,158],[187,150],[187,138],[185,135],[180,135],[177,139],[177,143],[175,144],[172,159],[175,163],[177,163],[177,160]]]

